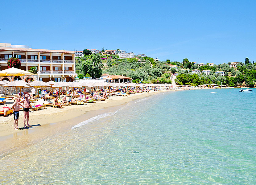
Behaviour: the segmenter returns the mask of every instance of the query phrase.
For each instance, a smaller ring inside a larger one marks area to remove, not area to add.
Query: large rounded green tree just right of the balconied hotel
[[[92,78],[101,77],[103,71],[102,68],[103,64],[100,55],[92,54],[87,60],[82,62],[82,74],[86,75],[86,73],[89,73]]]

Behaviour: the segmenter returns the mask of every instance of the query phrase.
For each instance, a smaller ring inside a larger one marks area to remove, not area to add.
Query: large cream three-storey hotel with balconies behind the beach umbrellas
[[[11,57],[20,60],[19,69],[28,71],[31,66],[35,66],[39,80],[44,82],[69,82],[76,77],[75,51],[31,49],[25,45],[0,43],[0,70],[7,69],[7,61]],[[34,77],[31,78],[35,80]],[[6,77],[4,80],[12,79]]]

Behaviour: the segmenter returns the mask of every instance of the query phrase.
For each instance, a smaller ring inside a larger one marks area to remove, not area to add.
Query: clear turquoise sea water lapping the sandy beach
[[[0,184],[256,184],[255,95],[130,102],[0,159]]]

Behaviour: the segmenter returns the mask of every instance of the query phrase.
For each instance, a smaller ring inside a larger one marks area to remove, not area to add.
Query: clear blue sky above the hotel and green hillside
[[[254,1],[2,1],[0,43],[256,62]]]

